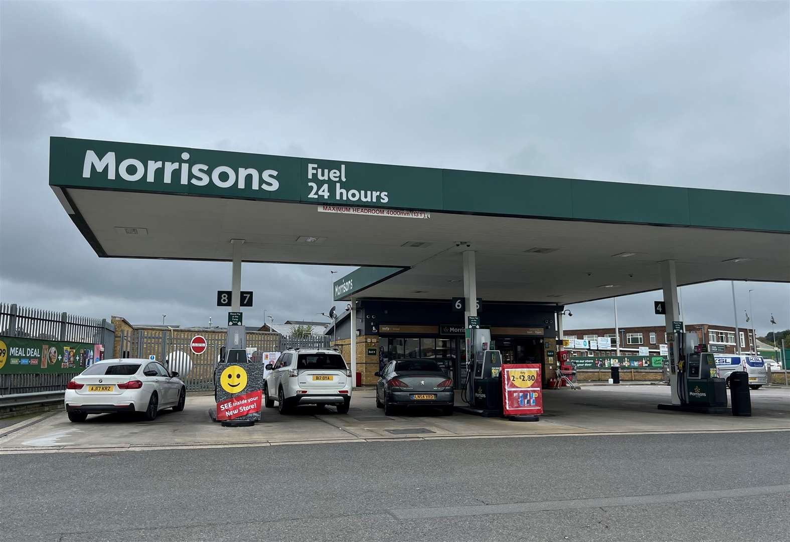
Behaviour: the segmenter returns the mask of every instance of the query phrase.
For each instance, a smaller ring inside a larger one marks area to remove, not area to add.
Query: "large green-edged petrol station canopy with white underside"
[[[748,179],[744,179],[748,181]],[[362,266],[352,295],[578,303],[790,281],[790,196],[52,137],[50,186],[103,258]],[[748,183],[747,183],[748,184]],[[355,208],[349,212],[349,208]]]

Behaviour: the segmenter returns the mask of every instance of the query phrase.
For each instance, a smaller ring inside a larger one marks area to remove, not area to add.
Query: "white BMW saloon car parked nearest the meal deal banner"
[[[162,408],[184,409],[186,387],[178,376],[150,359],[104,359],[68,383],[66,412],[73,422],[103,412],[141,412],[150,421]]]

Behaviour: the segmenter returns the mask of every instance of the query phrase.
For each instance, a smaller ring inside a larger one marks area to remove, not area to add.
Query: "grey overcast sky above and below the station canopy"
[[[47,186],[52,135],[790,193],[788,2],[2,2],[0,300],[203,325],[230,264],[100,259]],[[777,250],[790,250],[777,247]],[[347,271],[348,269],[338,269]],[[330,269],[243,265],[247,325],[316,319]],[[336,276],[337,277],[337,276]],[[736,284],[758,334],[788,284]],[[683,288],[732,324],[729,283]],[[213,293],[209,295],[213,301]],[[660,293],[619,300],[661,323]],[[611,300],[566,328],[613,325]]]

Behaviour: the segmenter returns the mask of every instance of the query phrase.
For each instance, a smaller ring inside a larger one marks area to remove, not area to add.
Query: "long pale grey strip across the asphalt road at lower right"
[[[507,502],[505,504],[482,504],[470,506],[441,506],[436,508],[395,508],[389,510],[397,519],[454,518],[484,516],[490,514],[524,514],[547,510],[578,510],[582,508],[605,508],[608,506],[638,506],[668,502],[704,501],[776,495],[790,493],[790,484],[762,487],[735,487],[709,491],[688,491],[660,495],[630,495],[626,497],[600,497],[595,499],[570,499],[543,502]]]

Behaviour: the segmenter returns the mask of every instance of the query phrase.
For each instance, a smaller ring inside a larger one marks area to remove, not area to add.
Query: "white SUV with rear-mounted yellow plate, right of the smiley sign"
[[[266,365],[264,404],[285,414],[296,405],[335,405],[348,412],[351,403],[351,371],[337,350],[286,350],[276,363]]]

